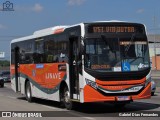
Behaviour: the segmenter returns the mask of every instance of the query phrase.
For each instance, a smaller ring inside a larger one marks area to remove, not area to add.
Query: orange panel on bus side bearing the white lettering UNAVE
[[[45,88],[54,88],[66,75],[66,71],[58,70],[59,64],[62,63],[42,64],[43,68],[36,68],[36,64],[20,64],[19,73],[30,77],[40,86]],[[11,74],[15,74],[14,69],[11,70]]]

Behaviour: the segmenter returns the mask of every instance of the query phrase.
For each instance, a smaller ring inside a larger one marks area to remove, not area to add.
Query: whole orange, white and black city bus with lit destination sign
[[[146,28],[97,21],[55,26],[11,41],[11,87],[33,98],[123,107],[151,97]]]

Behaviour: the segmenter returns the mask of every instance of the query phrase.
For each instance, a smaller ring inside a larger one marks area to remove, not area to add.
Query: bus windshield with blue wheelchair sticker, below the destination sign
[[[146,38],[86,38],[85,67],[99,72],[139,71],[150,67]]]

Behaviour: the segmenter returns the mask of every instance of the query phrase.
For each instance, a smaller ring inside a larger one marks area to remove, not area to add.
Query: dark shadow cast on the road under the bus
[[[156,96],[155,96],[156,97]],[[20,100],[26,100],[25,97],[19,97]],[[43,100],[35,98],[34,101],[37,104],[47,105],[50,107],[60,107],[59,102],[54,102],[50,100]],[[154,103],[145,103],[145,102],[132,102],[127,104],[125,107],[118,108],[110,103],[84,103],[84,104],[76,104],[74,110],[70,111],[72,113],[78,113],[82,116],[113,116],[114,114],[117,116],[118,113],[122,112],[137,112],[137,111],[152,111],[153,109],[159,108],[160,104]],[[64,109],[64,111],[63,111]],[[64,116],[64,112],[66,109],[62,109],[62,115]]]

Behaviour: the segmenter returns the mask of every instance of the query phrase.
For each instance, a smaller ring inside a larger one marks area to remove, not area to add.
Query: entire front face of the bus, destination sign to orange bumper
[[[85,24],[84,102],[130,102],[151,96],[148,40],[137,23]]]

